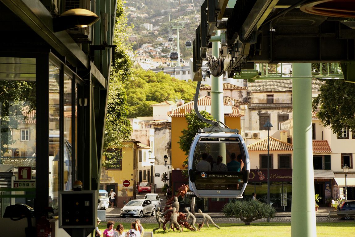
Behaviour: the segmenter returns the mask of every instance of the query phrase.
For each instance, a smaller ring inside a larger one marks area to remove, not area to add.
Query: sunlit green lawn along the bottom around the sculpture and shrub
[[[130,223],[116,222],[115,227],[122,223],[125,230],[129,230]],[[184,233],[172,230],[164,232],[159,229],[154,232],[154,237],[206,237],[206,236],[262,236],[262,237],[290,237],[291,223],[290,222],[272,222],[272,223],[252,223],[250,226],[244,224],[231,223],[216,223],[219,230],[213,225],[208,229],[206,225],[201,231],[189,231],[184,228]],[[158,224],[142,223],[144,231],[152,231],[158,227]],[[197,226],[197,225],[196,225]],[[343,222],[320,222],[317,223],[317,237],[355,237],[354,231],[355,223],[353,220]],[[99,229],[104,231],[106,222],[99,225]],[[228,231],[228,233],[226,233]],[[346,234],[345,234],[346,233]]]

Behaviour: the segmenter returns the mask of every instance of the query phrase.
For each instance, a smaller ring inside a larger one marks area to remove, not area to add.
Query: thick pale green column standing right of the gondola
[[[316,237],[310,63],[293,63],[293,167],[291,237]],[[308,77],[308,78],[297,78]]]

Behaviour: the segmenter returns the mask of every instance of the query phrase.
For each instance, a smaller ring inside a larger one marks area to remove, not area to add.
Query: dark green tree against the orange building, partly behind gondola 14
[[[208,114],[207,111],[201,111],[201,115],[209,120],[213,120],[213,117]],[[182,130],[182,135],[179,137],[179,147],[185,152],[186,159],[184,165],[187,167],[188,155],[191,147],[191,143],[199,128],[210,127],[206,122],[203,122],[197,117],[195,110],[192,110],[189,114],[186,114],[187,129]],[[187,177],[187,170],[183,170],[182,174]]]

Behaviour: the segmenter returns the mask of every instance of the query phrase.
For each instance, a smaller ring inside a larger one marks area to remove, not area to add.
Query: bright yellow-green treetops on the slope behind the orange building
[[[144,71],[133,68],[132,76],[125,84],[129,118],[153,116],[152,104],[164,100],[182,99],[190,101],[195,94],[196,83],[170,77],[163,72]]]

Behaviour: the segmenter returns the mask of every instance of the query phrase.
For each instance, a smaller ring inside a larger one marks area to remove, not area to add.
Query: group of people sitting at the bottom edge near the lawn
[[[97,218],[97,224],[100,223],[100,219]],[[135,222],[131,223],[131,229],[125,232],[123,225],[118,224],[116,229],[114,228],[115,222],[108,221],[107,229],[101,234],[99,228],[96,227],[95,237],[141,237],[144,233],[144,228],[141,225],[141,221],[136,219]]]

